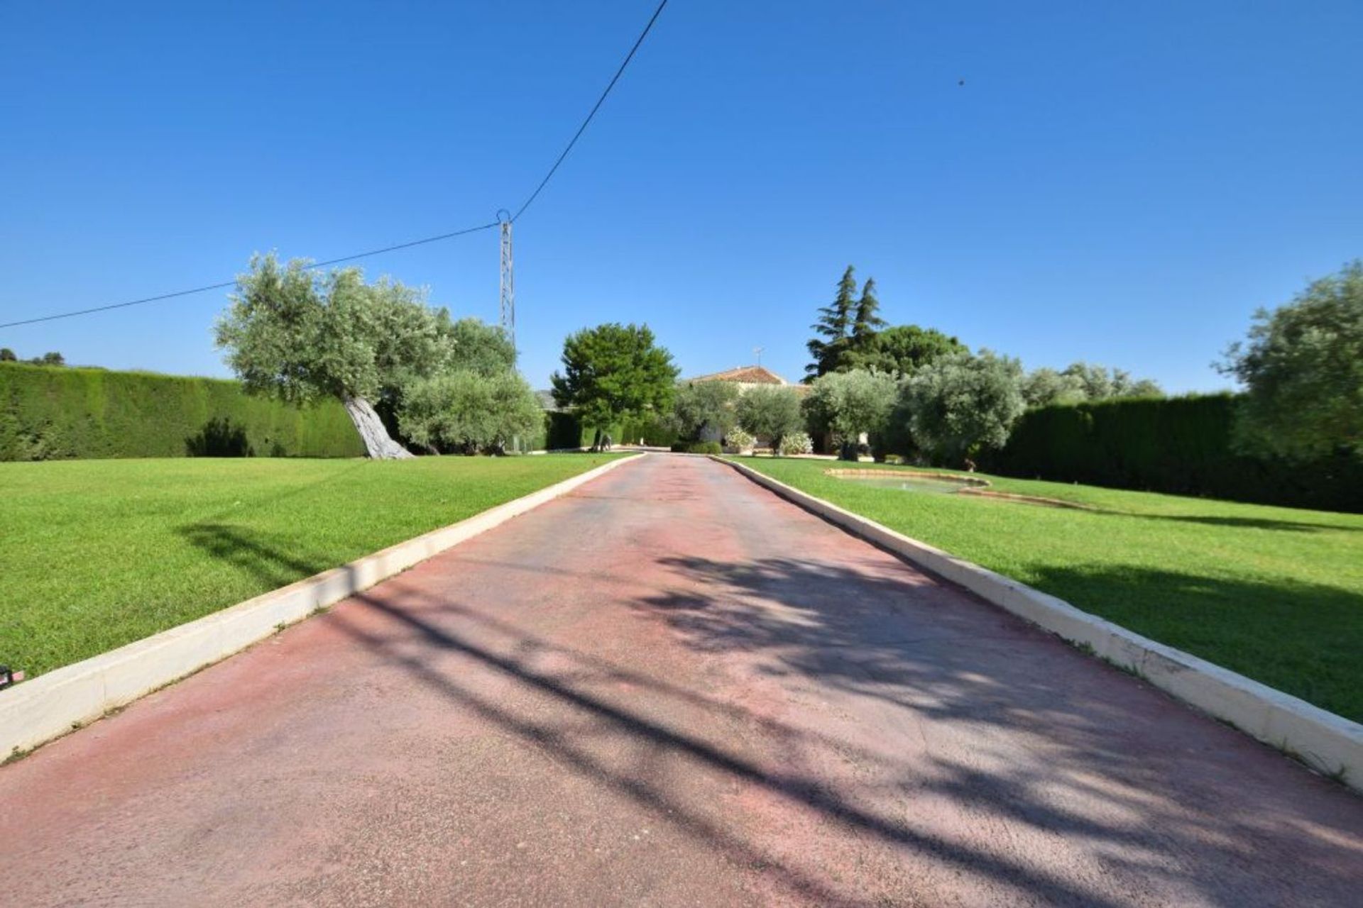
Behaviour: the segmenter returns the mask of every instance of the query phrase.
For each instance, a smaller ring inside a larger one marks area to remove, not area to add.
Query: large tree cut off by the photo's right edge
[[[1244,385],[1240,447],[1289,457],[1363,451],[1363,260],[1259,309],[1219,368]]]

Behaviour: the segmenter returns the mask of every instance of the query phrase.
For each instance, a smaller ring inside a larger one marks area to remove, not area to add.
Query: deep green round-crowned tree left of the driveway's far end
[[[553,400],[572,407],[582,425],[601,432],[624,417],[664,411],[672,403],[677,368],[654,343],[647,325],[609,323],[583,328],[563,342],[563,372],[549,376]]]

